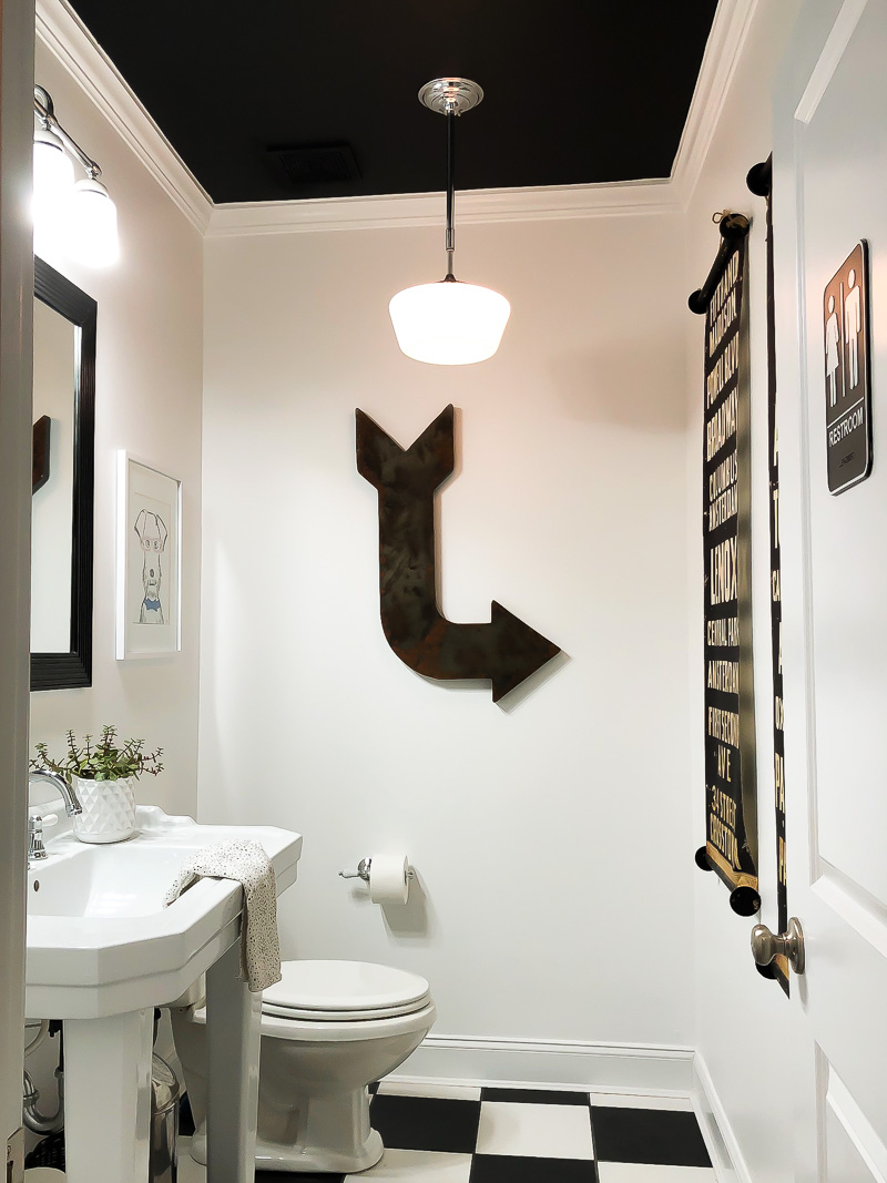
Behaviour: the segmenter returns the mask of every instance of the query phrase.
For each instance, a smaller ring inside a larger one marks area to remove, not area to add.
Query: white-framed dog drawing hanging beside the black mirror
[[[182,647],[182,483],[118,452],[117,660]]]

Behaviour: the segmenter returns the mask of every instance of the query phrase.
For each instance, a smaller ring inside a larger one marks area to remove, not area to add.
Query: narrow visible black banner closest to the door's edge
[[[776,421],[776,297],[773,293],[773,220],[771,212],[772,162],[756,164],[749,173],[749,188],[766,198],[766,371],[768,371],[768,455],[770,466],[770,636],[773,668],[773,800],[776,808],[776,912],[778,932],[789,926],[789,897],[785,874],[785,737],[782,702],[782,569],[779,558],[779,428]],[[789,993],[789,963],[785,957],[771,962],[772,976]],[[765,975],[766,976],[766,975]]]

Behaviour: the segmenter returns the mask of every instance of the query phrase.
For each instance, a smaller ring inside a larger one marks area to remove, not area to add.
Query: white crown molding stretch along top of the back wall
[[[457,203],[461,226],[678,212],[667,180],[525,189],[460,189]],[[442,216],[442,192],[313,201],[247,201],[214,206],[207,237],[440,226]]]

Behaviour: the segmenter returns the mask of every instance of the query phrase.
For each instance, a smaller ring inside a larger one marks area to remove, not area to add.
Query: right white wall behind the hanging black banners
[[[716,209],[753,216],[749,239],[749,308],[752,364],[752,581],[759,880],[762,923],[776,925],[776,822],[773,814],[772,668],[770,657],[770,550],[768,504],[766,231],[765,203],[745,185],[752,164],[770,154],[770,92],[799,0],[758,4],[705,168],[691,202],[686,232],[686,290],[704,280],[718,246]],[[777,194],[778,201],[778,194]],[[778,206],[775,233],[779,233]],[[687,317],[688,399],[692,420],[687,460],[689,523],[691,710],[693,833],[705,841],[703,702],[703,547],[699,498],[703,480],[704,318]],[[791,776],[791,769],[786,769]],[[791,839],[791,819],[788,819]],[[789,885],[791,907],[791,885]],[[695,1046],[726,1117],[740,1178],[755,1183],[794,1178],[791,1155],[791,1011],[776,982],[755,970],[749,935],[756,920],[734,916],[713,874],[695,877]],[[792,982],[792,989],[797,982]],[[737,1153],[738,1151],[738,1153]],[[746,1174],[747,1172],[747,1176]]]

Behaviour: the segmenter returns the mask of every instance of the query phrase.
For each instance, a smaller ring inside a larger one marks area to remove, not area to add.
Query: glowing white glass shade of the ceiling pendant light
[[[471,366],[499,348],[511,304],[490,287],[442,279],[404,287],[388,311],[407,357],[432,366]]]

